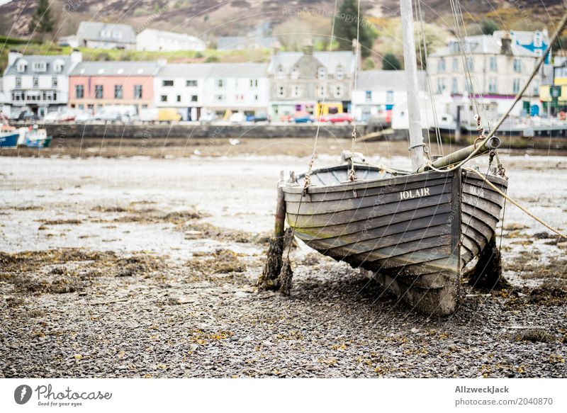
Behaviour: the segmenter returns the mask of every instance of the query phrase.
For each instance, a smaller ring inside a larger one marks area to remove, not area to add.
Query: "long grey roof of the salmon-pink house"
[[[69,76],[152,76],[158,62],[82,62]]]

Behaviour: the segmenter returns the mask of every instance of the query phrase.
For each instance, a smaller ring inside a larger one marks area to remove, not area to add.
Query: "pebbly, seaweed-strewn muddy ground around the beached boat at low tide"
[[[512,205],[510,287],[464,285],[451,317],[303,244],[286,298],[254,283],[279,171],[305,169],[312,142],[109,142],[1,158],[2,377],[567,376],[566,244]],[[350,145],[321,142],[316,166]],[[407,145],[371,145],[408,166]],[[567,157],[503,161],[510,196],[566,230]]]

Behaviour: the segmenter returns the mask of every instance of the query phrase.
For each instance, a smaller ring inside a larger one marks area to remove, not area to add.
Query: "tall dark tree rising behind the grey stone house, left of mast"
[[[352,40],[357,38],[357,25],[359,26],[359,43],[361,55],[367,57],[372,50],[374,33],[369,29],[367,21],[361,15],[359,20],[356,0],[344,0],[335,16],[335,38],[339,50],[351,50]]]

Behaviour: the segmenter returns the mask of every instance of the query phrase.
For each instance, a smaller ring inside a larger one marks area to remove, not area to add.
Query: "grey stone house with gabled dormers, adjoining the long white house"
[[[303,52],[276,52],[268,66],[272,118],[349,111],[356,67],[350,51],[313,52],[306,45]]]

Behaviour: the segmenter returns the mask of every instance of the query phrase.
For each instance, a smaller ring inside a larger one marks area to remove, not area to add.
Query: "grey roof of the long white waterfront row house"
[[[265,77],[267,63],[181,63],[166,64],[159,77]]]

